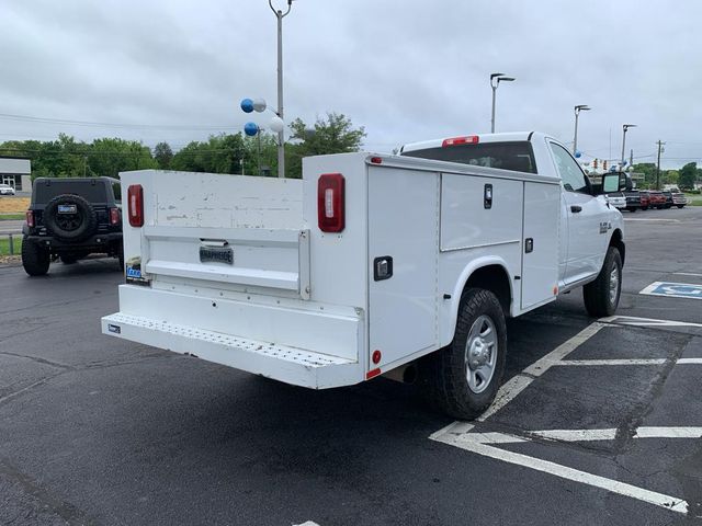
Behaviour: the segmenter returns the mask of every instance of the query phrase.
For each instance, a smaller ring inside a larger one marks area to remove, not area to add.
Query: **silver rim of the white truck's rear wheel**
[[[465,343],[465,369],[468,388],[479,395],[490,385],[497,365],[497,330],[488,316],[479,316],[471,325]]]

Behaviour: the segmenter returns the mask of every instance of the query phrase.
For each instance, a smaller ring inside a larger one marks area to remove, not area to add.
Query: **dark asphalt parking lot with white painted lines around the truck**
[[[103,336],[115,260],[0,267],[0,524],[698,524],[702,207],[624,218],[618,316],[511,320],[471,423]]]

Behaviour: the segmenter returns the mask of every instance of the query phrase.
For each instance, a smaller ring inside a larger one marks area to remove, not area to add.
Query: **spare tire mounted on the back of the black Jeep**
[[[75,206],[75,214],[59,214],[59,206]],[[44,225],[63,241],[82,241],[98,227],[98,217],[90,203],[80,195],[57,195],[46,204],[43,214]]]

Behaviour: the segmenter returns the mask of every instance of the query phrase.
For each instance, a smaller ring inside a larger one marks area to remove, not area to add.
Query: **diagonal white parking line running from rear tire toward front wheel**
[[[495,397],[495,401],[492,405],[488,408],[478,419],[478,422],[484,422],[485,420],[492,416],[500,409],[511,402],[514,397],[517,397],[520,392],[529,387],[529,385],[534,381],[537,377],[543,375],[546,370],[548,370],[553,365],[558,363],[561,359],[565,358],[568,354],[575,351],[579,345],[587,342],[590,338],[605,327],[602,323],[595,322],[590,325],[582,329],[570,340],[562,343],[556,348],[554,348],[551,353],[543,356],[541,359],[534,362],[529,367],[526,367],[519,375],[510,378],[509,381],[505,382],[502,387],[497,391],[497,397]]]

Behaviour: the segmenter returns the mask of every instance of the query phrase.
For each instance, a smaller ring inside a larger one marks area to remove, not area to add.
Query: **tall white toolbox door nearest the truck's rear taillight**
[[[384,369],[438,342],[439,174],[371,167],[367,192],[369,367]]]

